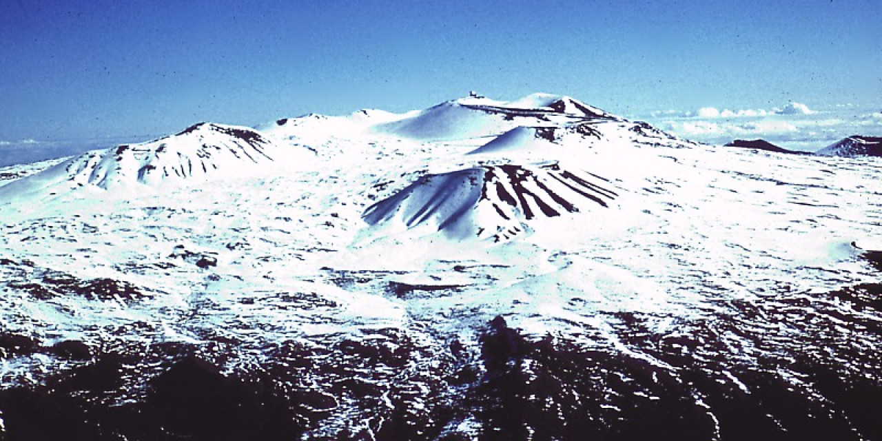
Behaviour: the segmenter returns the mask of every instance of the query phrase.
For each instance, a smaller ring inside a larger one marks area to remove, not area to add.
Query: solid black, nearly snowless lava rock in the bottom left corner
[[[146,399],[108,405],[123,372],[137,374],[131,366],[145,361],[101,355],[46,385],[0,391],[0,439],[288,440],[301,432],[287,397],[194,357],[140,385],[152,391]]]

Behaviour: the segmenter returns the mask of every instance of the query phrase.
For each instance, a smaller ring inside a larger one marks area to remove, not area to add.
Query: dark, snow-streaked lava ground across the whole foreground
[[[497,317],[473,347],[380,330],[276,344],[234,372],[218,366],[235,341],[44,348],[4,334],[7,360],[72,367],[0,392],[0,439],[882,439],[882,284],[720,306],[668,335],[618,313],[619,348],[527,338]]]

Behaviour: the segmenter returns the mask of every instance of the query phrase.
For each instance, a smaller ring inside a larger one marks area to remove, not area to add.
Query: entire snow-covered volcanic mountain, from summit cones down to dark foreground
[[[547,93],[0,168],[0,439],[882,438],[879,173]]]

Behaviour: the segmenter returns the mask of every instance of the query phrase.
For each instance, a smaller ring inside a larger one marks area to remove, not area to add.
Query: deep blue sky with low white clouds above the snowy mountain
[[[477,90],[657,110],[882,107],[878,0],[2,0],[0,140],[153,136]]]

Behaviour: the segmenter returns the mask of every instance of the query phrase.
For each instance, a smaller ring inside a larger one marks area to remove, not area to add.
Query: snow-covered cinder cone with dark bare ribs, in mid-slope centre
[[[542,219],[608,207],[617,197],[606,179],[557,163],[467,168],[420,177],[370,206],[364,221],[389,232],[442,232],[453,239],[507,241]]]

